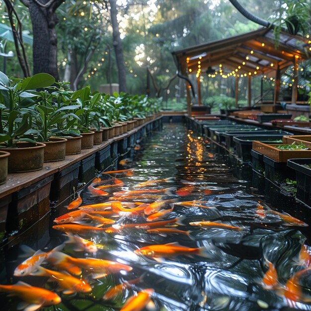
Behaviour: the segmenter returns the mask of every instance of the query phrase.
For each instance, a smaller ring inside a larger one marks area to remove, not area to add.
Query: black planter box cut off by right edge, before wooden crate
[[[287,165],[295,170],[297,181],[296,198],[311,206],[311,158],[289,159]]]

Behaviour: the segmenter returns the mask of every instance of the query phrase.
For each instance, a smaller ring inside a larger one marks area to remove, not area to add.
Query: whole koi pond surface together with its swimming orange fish
[[[22,242],[44,251],[35,254],[41,259],[27,263],[34,267],[27,266],[26,276],[15,269],[31,255],[29,249],[24,258],[26,247],[18,245],[2,254],[1,283],[21,280],[57,293],[62,302],[34,301],[28,294],[23,296],[27,304],[17,305],[20,300],[5,293],[0,295],[3,310],[29,305],[29,311],[44,306],[59,311],[311,310],[308,225],[281,213],[282,200],[278,211],[272,208],[273,198],[252,186],[247,167],[176,124],[142,145],[133,161],[122,163],[120,169],[133,170],[99,175],[82,191],[79,209],[64,218],[71,211],[51,215],[44,245]],[[84,285],[77,285],[73,275]],[[20,289],[2,289],[21,296]]]

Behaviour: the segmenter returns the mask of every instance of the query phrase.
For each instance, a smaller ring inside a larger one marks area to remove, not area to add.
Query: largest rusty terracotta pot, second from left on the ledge
[[[7,169],[9,173],[22,173],[40,170],[43,167],[45,144],[16,143],[18,148],[0,148],[0,151],[10,153]]]

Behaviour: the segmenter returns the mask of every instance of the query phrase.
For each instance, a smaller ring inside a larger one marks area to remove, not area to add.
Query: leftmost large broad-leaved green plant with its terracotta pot
[[[25,79],[9,79],[0,72],[0,102],[3,103],[0,106],[0,143],[1,150],[10,153],[8,172],[42,169],[45,144],[23,137],[32,125],[31,114],[23,108],[35,104],[37,95],[32,90],[54,82],[52,76],[44,73]]]

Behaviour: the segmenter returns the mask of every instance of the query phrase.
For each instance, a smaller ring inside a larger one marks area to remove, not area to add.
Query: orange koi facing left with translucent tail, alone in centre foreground
[[[211,254],[208,253],[205,246],[193,248],[181,246],[176,242],[144,246],[136,249],[134,253],[147,257],[173,257],[179,255],[199,255],[207,258],[211,257]]]

